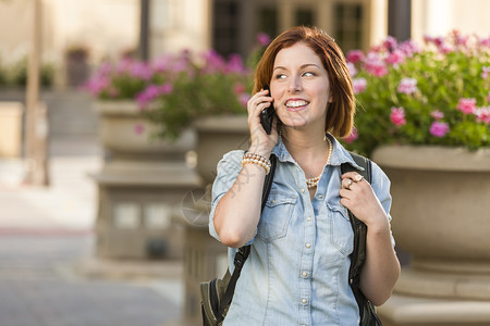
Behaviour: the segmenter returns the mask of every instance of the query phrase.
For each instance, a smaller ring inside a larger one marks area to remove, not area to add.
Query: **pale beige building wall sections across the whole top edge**
[[[25,54],[30,35],[33,0],[0,1],[0,54],[13,61]],[[266,0],[262,0],[266,1]],[[275,2],[272,0],[268,0]],[[367,43],[377,43],[387,34],[388,0],[345,0],[369,8]],[[44,7],[44,55],[62,62],[71,45],[88,45],[91,61],[117,57],[137,47],[139,0],[41,0]],[[150,53],[176,52],[183,48],[200,51],[211,43],[212,0],[152,0]],[[293,0],[278,1],[281,15]],[[333,0],[321,0],[319,12],[328,15]],[[489,0],[412,0],[413,36],[443,35],[453,28],[481,36],[490,33]],[[322,22],[329,22],[324,18]],[[327,24],[328,25],[328,24]],[[369,28],[370,26],[370,28]],[[329,26],[321,26],[327,28]]]

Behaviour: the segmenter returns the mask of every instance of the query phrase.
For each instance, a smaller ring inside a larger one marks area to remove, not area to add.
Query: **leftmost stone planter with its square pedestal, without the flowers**
[[[185,164],[195,146],[189,129],[176,141],[151,139],[154,126],[132,101],[97,102],[106,152],[98,186],[97,247],[105,259],[182,259],[182,201],[200,187]]]

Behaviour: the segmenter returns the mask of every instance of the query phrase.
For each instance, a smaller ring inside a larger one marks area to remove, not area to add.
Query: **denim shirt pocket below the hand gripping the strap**
[[[347,209],[341,204],[327,203],[330,220],[330,242],[343,255],[348,255],[354,249],[354,231]]]

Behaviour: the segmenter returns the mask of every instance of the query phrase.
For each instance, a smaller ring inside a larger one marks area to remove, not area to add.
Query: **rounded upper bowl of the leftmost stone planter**
[[[175,141],[152,138],[156,126],[145,120],[134,101],[96,101],[99,138],[110,156],[182,158],[195,146],[189,129]]]

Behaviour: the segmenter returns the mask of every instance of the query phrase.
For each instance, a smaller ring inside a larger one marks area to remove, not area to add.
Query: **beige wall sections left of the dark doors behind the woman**
[[[61,61],[73,45],[88,45],[91,61],[135,49],[139,0],[41,0],[44,55]],[[210,0],[152,0],[150,53],[200,51],[210,45]],[[29,47],[32,0],[0,1],[0,53],[13,61]]]

